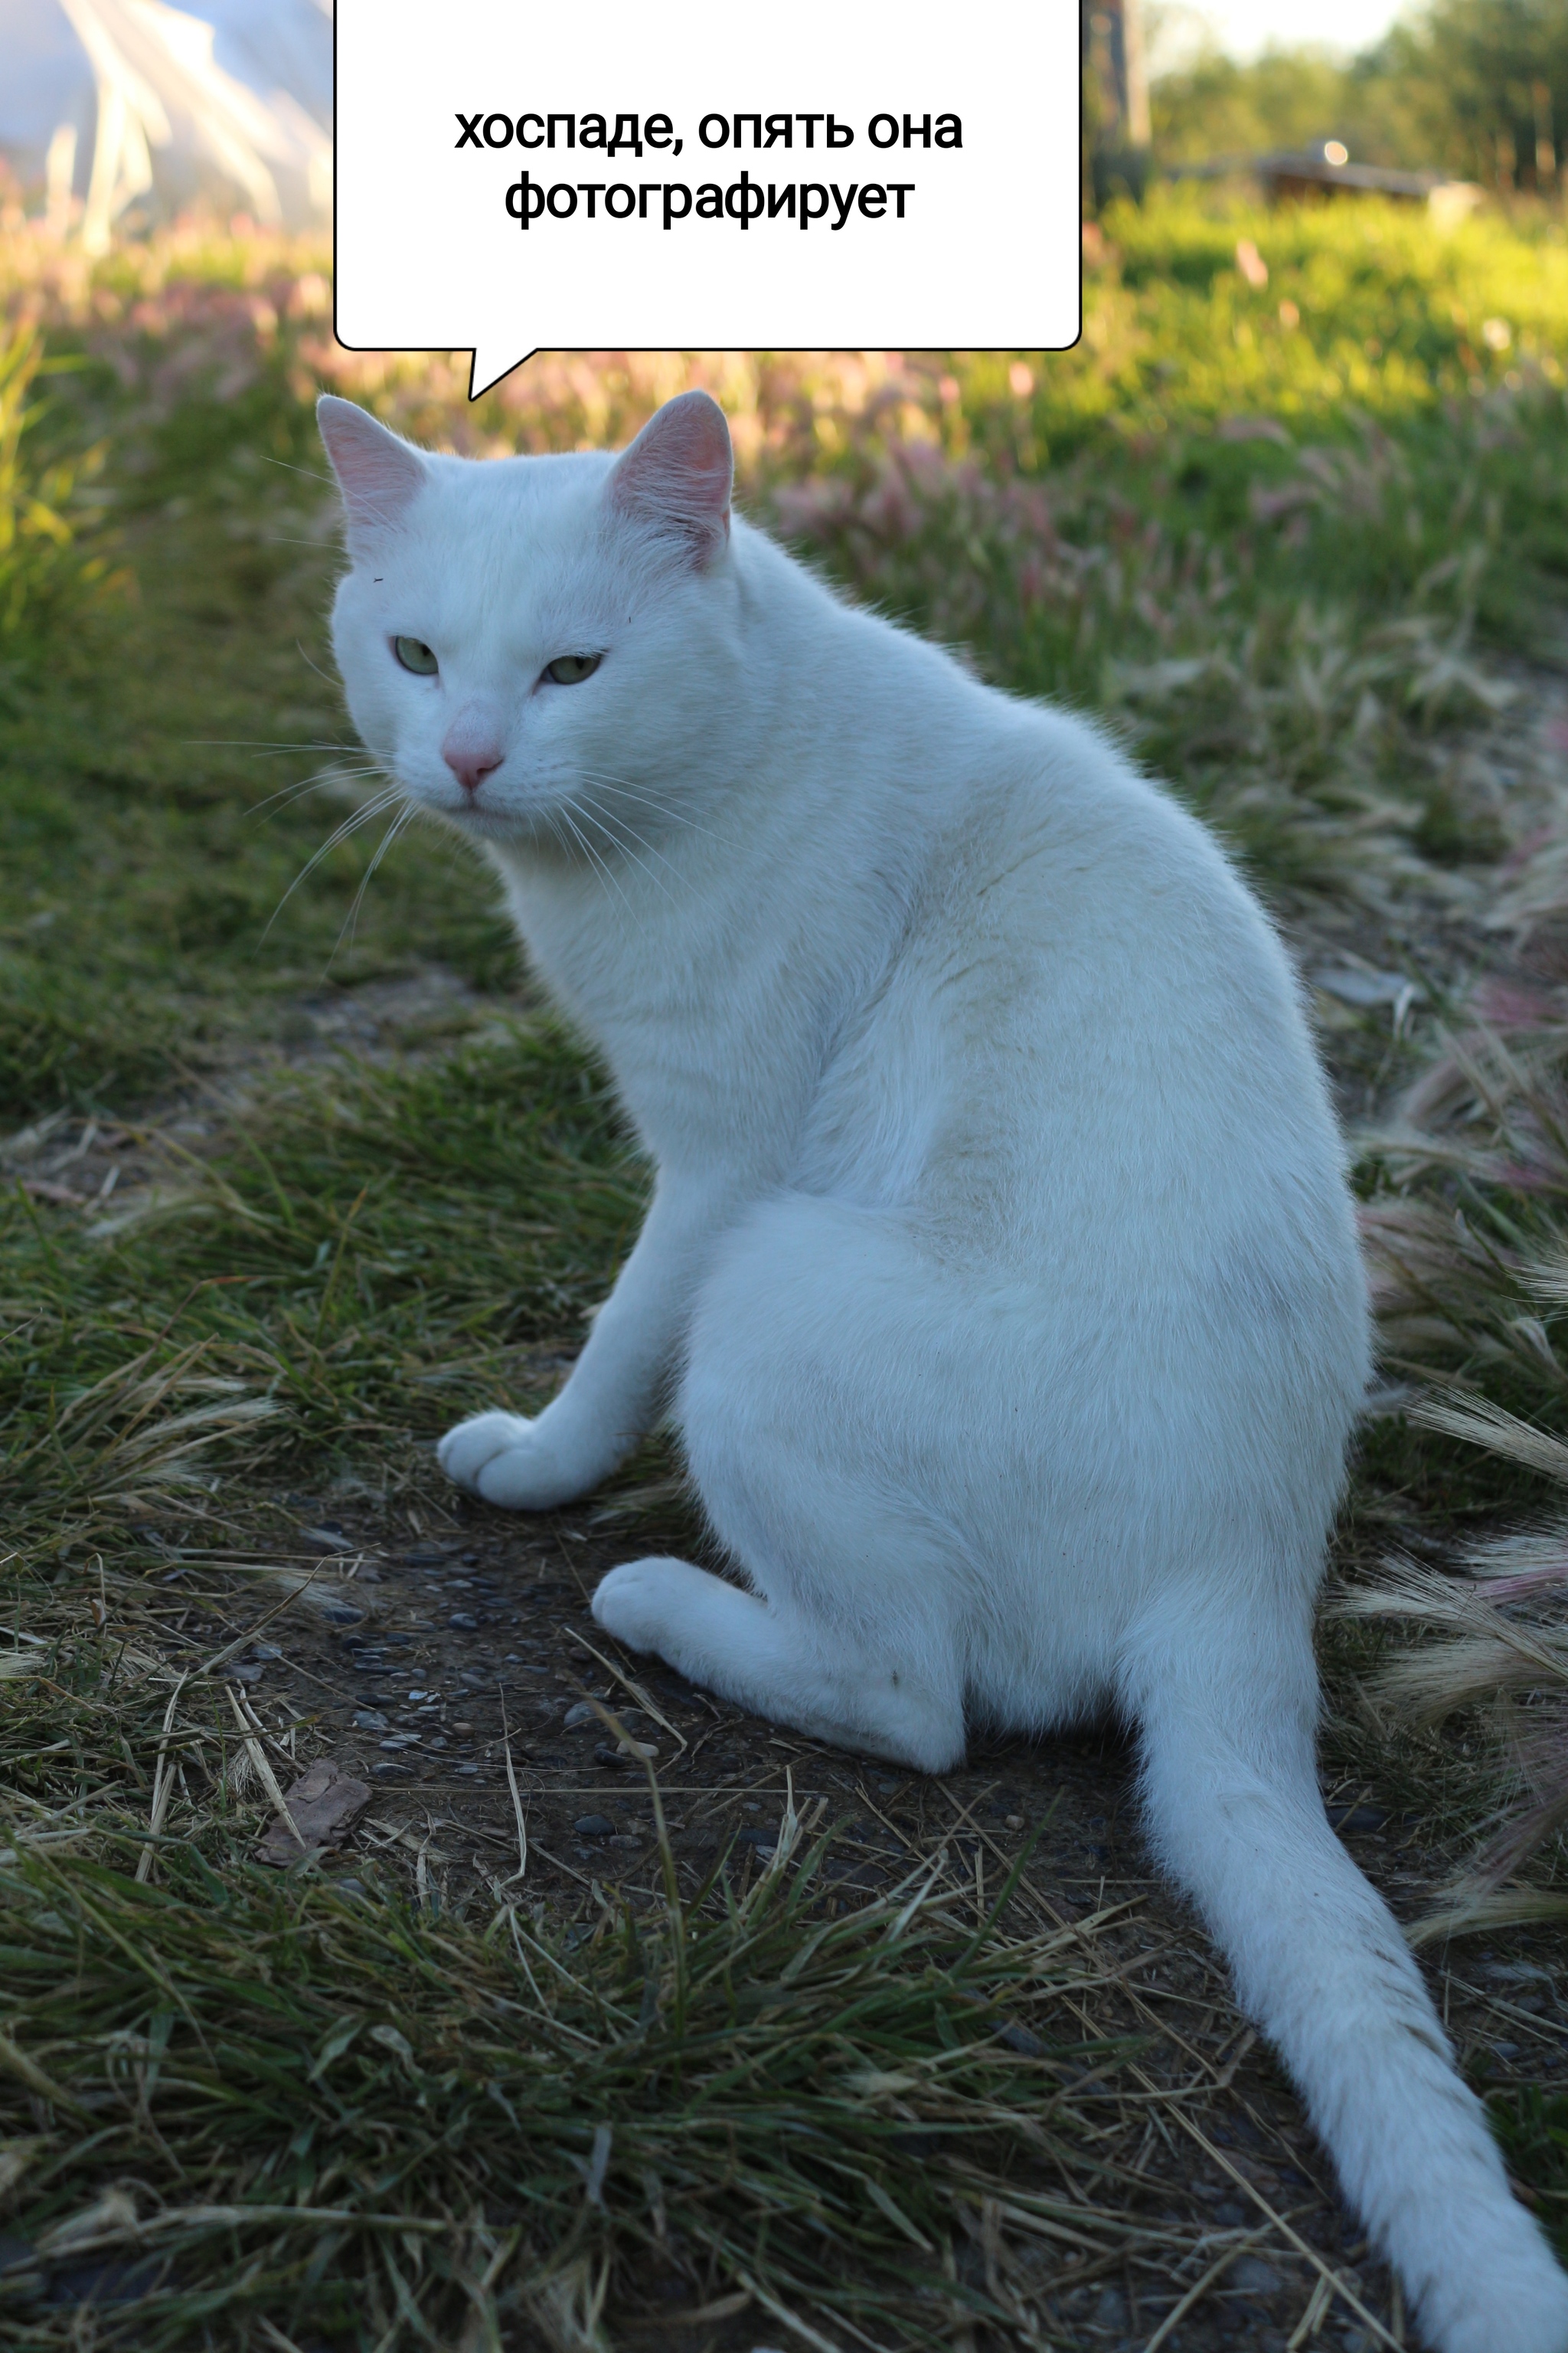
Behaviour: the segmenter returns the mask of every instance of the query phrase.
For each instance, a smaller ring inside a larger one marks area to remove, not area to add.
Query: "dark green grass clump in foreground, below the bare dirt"
[[[976,1937],[922,1873],[823,1918],[818,1861],[691,1911],[670,1866],[661,1915],[602,1911],[588,1941],[501,1882],[463,1920],[374,1873],[268,1885],[188,1849],[160,1889],[0,1868],[0,2162],[31,2249],[0,2275],[7,2339],[75,2344],[49,2282],[110,2264],[99,2344],[193,2344],[219,2313],[237,2348],[277,2341],[261,2315],[501,2344],[541,2311],[602,2344],[654,2266],[943,2344],[1023,2318],[954,2275],[976,2195],[1088,2254],[1159,2238],[1095,2148],[1084,2080],[1112,2113],[1126,2054],[1084,2040],[1077,1934]]]

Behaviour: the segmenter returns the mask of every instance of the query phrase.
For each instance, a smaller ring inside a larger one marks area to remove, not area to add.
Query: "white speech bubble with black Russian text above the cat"
[[[339,0],[336,334],[534,351],[1063,351],[1079,7]]]

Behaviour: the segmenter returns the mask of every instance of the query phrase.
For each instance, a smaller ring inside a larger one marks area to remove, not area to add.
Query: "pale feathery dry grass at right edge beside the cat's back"
[[[1368,1139],[1380,1186],[1363,1231],[1385,1360],[1427,1393],[1410,1421],[1535,1497],[1568,1485],[1568,993],[1563,831],[1542,826],[1490,906],[1519,976],[1483,979],[1441,1031],[1392,1122]],[[1493,1497],[1493,1522],[1497,1497]],[[1418,1633],[1380,1675],[1415,1727],[1462,1720],[1493,1760],[1490,1826],[1425,1934],[1568,1918],[1568,1522],[1408,1558],[1347,1612]]]

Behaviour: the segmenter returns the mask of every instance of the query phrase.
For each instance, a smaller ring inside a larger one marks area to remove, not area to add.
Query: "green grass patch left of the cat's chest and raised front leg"
[[[527,1344],[581,1341],[644,1207],[599,1080],[543,1024],[273,1080],[216,1153],[165,1165],[148,1205],[85,1231],[0,1195],[12,1544],[59,1539],[66,1497],[73,1541],[101,1534],[120,1489],[146,1504],[155,1433],[202,1381],[266,1405],[240,1435],[277,1475],[374,1447],[402,1461],[463,1409],[522,1402]],[[183,1471],[179,1428],[172,1449]]]

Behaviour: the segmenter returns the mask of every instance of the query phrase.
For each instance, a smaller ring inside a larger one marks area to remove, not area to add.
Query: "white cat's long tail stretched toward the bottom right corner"
[[[1159,1857],[1225,1948],[1429,2346],[1568,2353],[1568,2278],[1509,2193],[1394,1915],[1328,1828],[1305,1609],[1286,1633],[1248,1635],[1246,1614],[1166,1605],[1124,1657]]]

